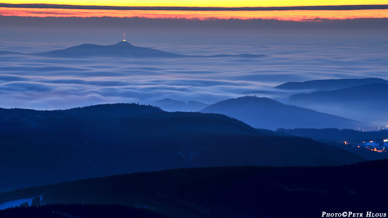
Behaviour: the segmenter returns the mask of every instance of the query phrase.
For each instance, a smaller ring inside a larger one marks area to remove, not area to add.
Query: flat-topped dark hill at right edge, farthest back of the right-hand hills
[[[352,86],[366,85],[372,83],[388,84],[388,81],[381,78],[363,78],[363,79],[317,79],[304,82],[286,82],[276,86],[277,89],[286,90],[309,90],[325,89],[336,90],[350,88]]]

